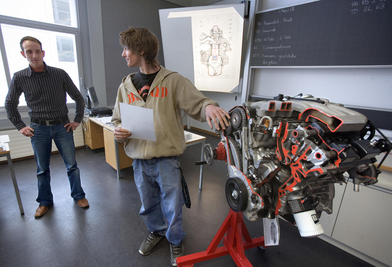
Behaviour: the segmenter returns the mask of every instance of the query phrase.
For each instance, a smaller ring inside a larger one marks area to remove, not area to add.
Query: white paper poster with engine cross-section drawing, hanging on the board
[[[243,18],[234,7],[171,13],[191,16],[194,85],[231,92],[240,81]]]

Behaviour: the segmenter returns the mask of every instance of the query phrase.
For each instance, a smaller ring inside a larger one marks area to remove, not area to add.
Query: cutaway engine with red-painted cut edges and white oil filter
[[[328,99],[283,97],[249,101],[229,112],[221,142],[204,148],[207,165],[227,162],[226,198],[251,221],[281,215],[301,236],[323,233],[321,212],[332,213],[334,184],[377,182],[375,157],[390,141],[368,119]],[[374,138],[376,130],[381,135]],[[381,166],[380,162],[378,168]]]

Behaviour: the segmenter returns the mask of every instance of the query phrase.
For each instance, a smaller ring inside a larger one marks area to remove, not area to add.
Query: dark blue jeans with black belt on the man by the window
[[[40,204],[39,206],[53,204],[49,169],[52,139],[64,160],[65,167],[67,167],[71,197],[76,201],[85,198],[85,193],[80,184],[80,171],[76,164],[73,132],[72,130],[67,132],[67,128],[64,128],[65,124],[67,123],[47,126],[30,123],[30,127],[34,129],[31,145],[37,162],[38,197],[36,200]]]

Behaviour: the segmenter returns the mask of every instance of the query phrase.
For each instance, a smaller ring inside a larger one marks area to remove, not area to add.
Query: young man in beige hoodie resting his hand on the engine
[[[217,129],[219,125],[225,129],[230,116],[218,103],[203,96],[189,79],[159,65],[158,39],[149,30],[129,28],[120,33],[120,43],[128,67],[140,68],[123,78],[112,117],[114,137],[125,141],[125,152],[134,159],[134,180],[142,200],[139,215],[149,229],[139,252],[149,254],[166,236],[171,263],[176,266],[176,258],[184,255],[185,236],[178,159],[186,147],[181,109],[193,119],[207,120],[211,129],[212,123]],[[153,110],[156,141],[133,139],[132,133],[122,128],[119,103]]]

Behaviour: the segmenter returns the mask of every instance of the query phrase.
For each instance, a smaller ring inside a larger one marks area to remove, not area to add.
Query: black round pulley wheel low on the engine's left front
[[[237,177],[226,181],[226,200],[230,209],[235,212],[244,211],[248,205],[248,194],[245,184]]]

